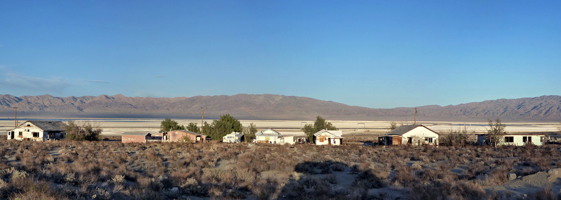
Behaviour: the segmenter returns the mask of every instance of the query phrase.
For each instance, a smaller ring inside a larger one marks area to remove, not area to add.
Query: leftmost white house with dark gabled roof
[[[29,120],[8,130],[8,140],[50,141],[64,139],[66,123],[62,121]]]

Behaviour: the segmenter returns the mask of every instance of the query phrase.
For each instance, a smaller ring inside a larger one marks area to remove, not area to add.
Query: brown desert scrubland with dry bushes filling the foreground
[[[0,141],[2,199],[557,199],[561,146]]]

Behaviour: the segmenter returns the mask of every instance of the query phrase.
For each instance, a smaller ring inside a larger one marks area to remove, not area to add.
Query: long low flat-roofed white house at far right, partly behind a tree
[[[545,134],[502,134],[500,136],[499,142],[497,145],[514,145],[514,146],[522,146],[527,144],[534,144],[534,145],[544,145],[545,142]],[[480,134],[477,135],[477,144],[478,145],[490,145],[490,139],[488,134]]]

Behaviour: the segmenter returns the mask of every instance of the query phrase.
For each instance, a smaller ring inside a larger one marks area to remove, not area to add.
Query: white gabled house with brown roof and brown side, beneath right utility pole
[[[402,125],[378,137],[378,145],[436,145],[439,134],[423,125]]]

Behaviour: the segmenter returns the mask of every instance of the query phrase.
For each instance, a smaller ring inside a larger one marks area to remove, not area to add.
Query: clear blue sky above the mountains
[[[2,1],[0,93],[371,108],[561,94],[559,1]]]

